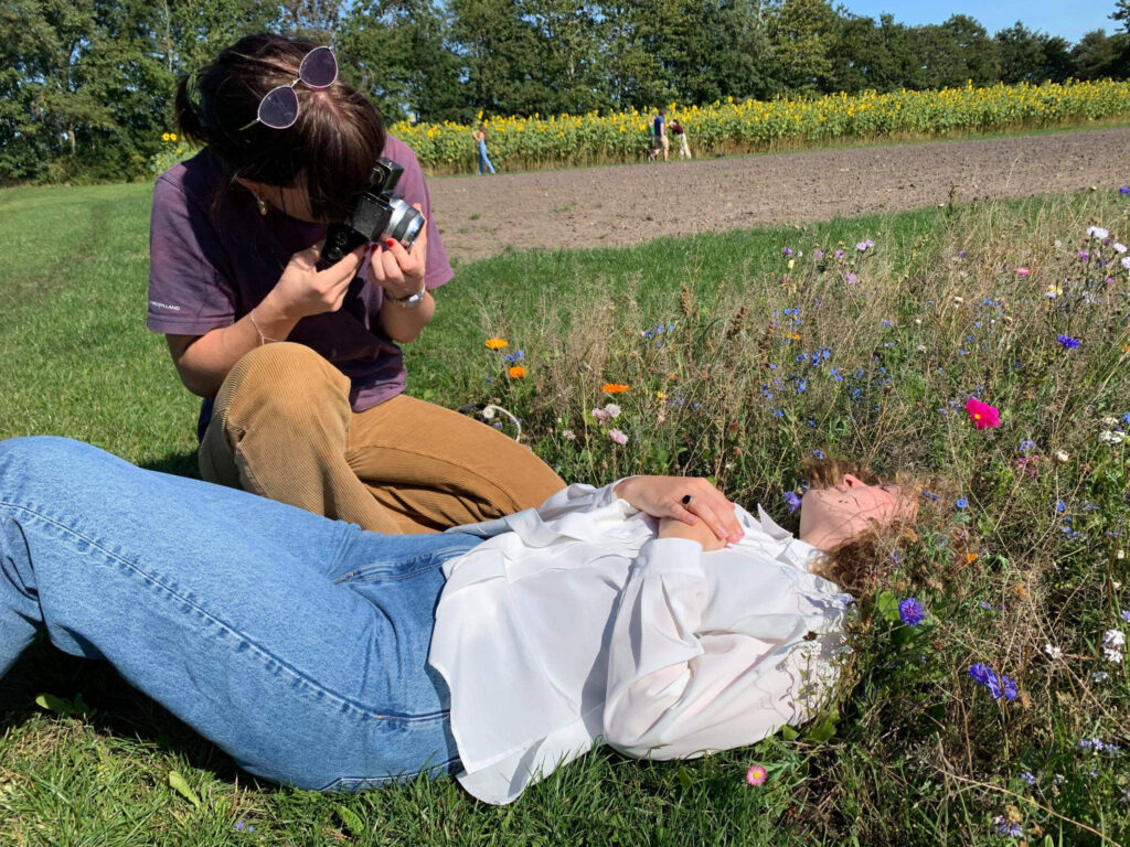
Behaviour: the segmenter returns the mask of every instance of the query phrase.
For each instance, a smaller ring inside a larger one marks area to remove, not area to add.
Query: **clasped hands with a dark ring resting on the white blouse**
[[[696,477],[632,477],[620,482],[616,496],[659,518],[660,538],[697,541],[718,550],[741,540],[741,524],[725,495]],[[689,495],[689,503],[684,504]]]

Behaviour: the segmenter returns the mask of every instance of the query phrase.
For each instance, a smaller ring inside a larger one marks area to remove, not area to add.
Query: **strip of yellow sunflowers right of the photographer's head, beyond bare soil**
[[[539,169],[636,161],[646,154],[654,112],[488,116],[490,158],[504,169]],[[819,98],[667,105],[695,156],[799,149],[829,143],[897,141],[1037,130],[1130,117],[1130,82],[996,85],[940,90],[866,91]],[[471,126],[393,124],[431,173],[470,173],[476,166]],[[672,152],[678,145],[672,146]]]

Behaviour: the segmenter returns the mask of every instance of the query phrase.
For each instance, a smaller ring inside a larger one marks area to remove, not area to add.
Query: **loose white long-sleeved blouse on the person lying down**
[[[539,509],[457,527],[487,540],[444,566],[429,663],[479,800],[508,803],[598,740],[695,758],[803,722],[836,675],[851,597],[760,509],[703,552],[574,484]]]

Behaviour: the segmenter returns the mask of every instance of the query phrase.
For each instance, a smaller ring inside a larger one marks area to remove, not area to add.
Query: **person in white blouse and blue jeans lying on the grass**
[[[751,744],[820,705],[850,596],[824,552],[910,517],[843,475],[800,539],[704,480],[380,535],[61,438],[0,443],[0,675],[108,660],[244,769],[319,791],[452,774],[507,803],[598,739]]]

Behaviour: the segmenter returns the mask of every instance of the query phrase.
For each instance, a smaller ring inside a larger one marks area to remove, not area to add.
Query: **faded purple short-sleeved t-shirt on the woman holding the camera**
[[[391,136],[383,155],[405,168],[397,192],[408,203],[419,203],[427,218],[425,286],[442,286],[452,277],[451,264],[416,155]],[[221,178],[207,148],[157,177],[146,322],[154,332],[203,335],[231,326],[275,287],[294,253],[325,236],[324,225],[306,224],[273,208],[260,215],[251,192],[238,186],[226,191],[217,206],[214,198]],[[405,390],[403,356],[384,334],[377,315],[382,296],[383,289],[359,273],[340,309],[302,318],[287,337],[313,348],[349,377],[355,411]],[[210,407],[206,404],[205,414]]]

